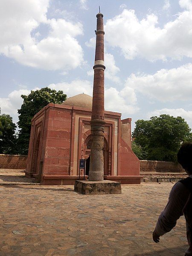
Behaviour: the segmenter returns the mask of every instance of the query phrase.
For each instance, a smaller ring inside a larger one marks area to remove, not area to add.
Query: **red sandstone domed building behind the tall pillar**
[[[79,159],[91,148],[92,97],[79,94],[63,104],[49,103],[32,119],[27,177],[42,185],[74,184]],[[131,118],[105,111],[104,179],[140,183],[140,161],[131,150]]]

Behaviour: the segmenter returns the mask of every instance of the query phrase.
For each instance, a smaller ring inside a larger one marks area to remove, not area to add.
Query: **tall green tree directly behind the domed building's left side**
[[[31,119],[38,111],[47,106],[48,103],[61,104],[67,99],[67,95],[63,91],[51,90],[48,87],[40,90],[31,91],[26,95],[21,95],[23,104],[18,109],[20,128],[18,134],[18,150],[20,154],[28,154],[29,138],[31,132]]]

